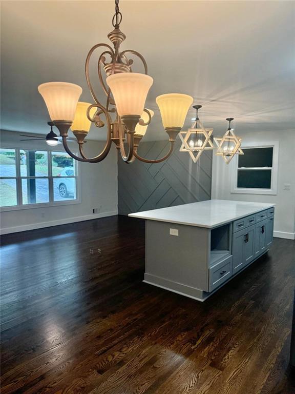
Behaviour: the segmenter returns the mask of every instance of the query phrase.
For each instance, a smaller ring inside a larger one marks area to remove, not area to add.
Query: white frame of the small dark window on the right
[[[270,189],[260,189],[260,188],[241,188],[238,185],[238,165],[239,165],[239,155],[235,155],[233,159],[233,171],[231,171],[231,189],[230,193],[239,194],[278,194],[278,167],[279,167],[279,141],[269,141],[269,142],[256,142],[256,143],[242,143],[242,149],[255,149],[255,148],[272,148],[272,167],[271,167],[271,184]],[[264,167],[249,167],[247,169],[251,170],[266,170]],[[270,167],[268,167],[270,169]]]

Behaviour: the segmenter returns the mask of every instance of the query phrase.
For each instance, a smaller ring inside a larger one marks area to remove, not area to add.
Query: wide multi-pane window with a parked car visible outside
[[[7,210],[76,201],[76,167],[66,152],[0,149],[0,206]]]

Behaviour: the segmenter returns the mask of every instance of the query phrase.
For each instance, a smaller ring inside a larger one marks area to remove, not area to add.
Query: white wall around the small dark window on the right
[[[295,239],[295,131],[247,132],[238,133],[244,143],[267,143],[279,141],[278,194],[237,194],[231,193],[231,172],[234,161],[228,165],[221,157],[214,155],[212,174],[212,199],[238,200],[275,203],[275,237]],[[283,190],[285,183],[291,184],[290,190]]]

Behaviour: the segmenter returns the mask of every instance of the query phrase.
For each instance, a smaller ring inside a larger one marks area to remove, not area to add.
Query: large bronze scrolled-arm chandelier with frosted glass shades
[[[44,83],[38,86],[38,91],[43,96],[52,123],[59,130],[65,150],[75,160],[98,163],[108,155],[113,142],[126,163],[131,163],[135,159],[145,163],[159,163],[171,155],[188,108],[193,103],[193,97],[169,93],[156,98],[163,127],[169,137],[170,150],[157,160],[141,157],[137,153],[138,145],[154,114],[152,110],[144,108],[153,78],[147,75],[147,65],[140,53],[134,50],[120,50],[120,45],[126,38],[119,28],[121,21],[119,0],[115,0],[115,14],[112,20],[114,29],[108,34],[113,48],[109,44],[97,44],[90,49],[86,58],[86,80],[94,100],[93,104],[78,102],[82,88],[71,83]],[[105,105],[99,102],[90,82],[90,59],[98,48],[102,49],[102,52],[98,58],[97,72],[101,88],[106,94]],[[133,60],[130,56],[139,58],[144,73],[133,72]],[[97,156],[89,158],[83,152],[83,143],[92,123],[96,127],[106,125],[107,141]],[[74,154],[68,146],[69,128],[76,137],[80,156]]]

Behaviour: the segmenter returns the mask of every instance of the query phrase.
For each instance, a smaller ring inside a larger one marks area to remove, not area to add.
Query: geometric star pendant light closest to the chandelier
[[[212,142],[213,129],[205,129],[198,117],[198,110],[202,108],[201,105],[194,105],[196,109],[196,121],[191,129],[181,131],[179,133],[180,140],[182,141],[180,152],[188,152],[194,163],[200,159],[204,150],[214,149]]]

